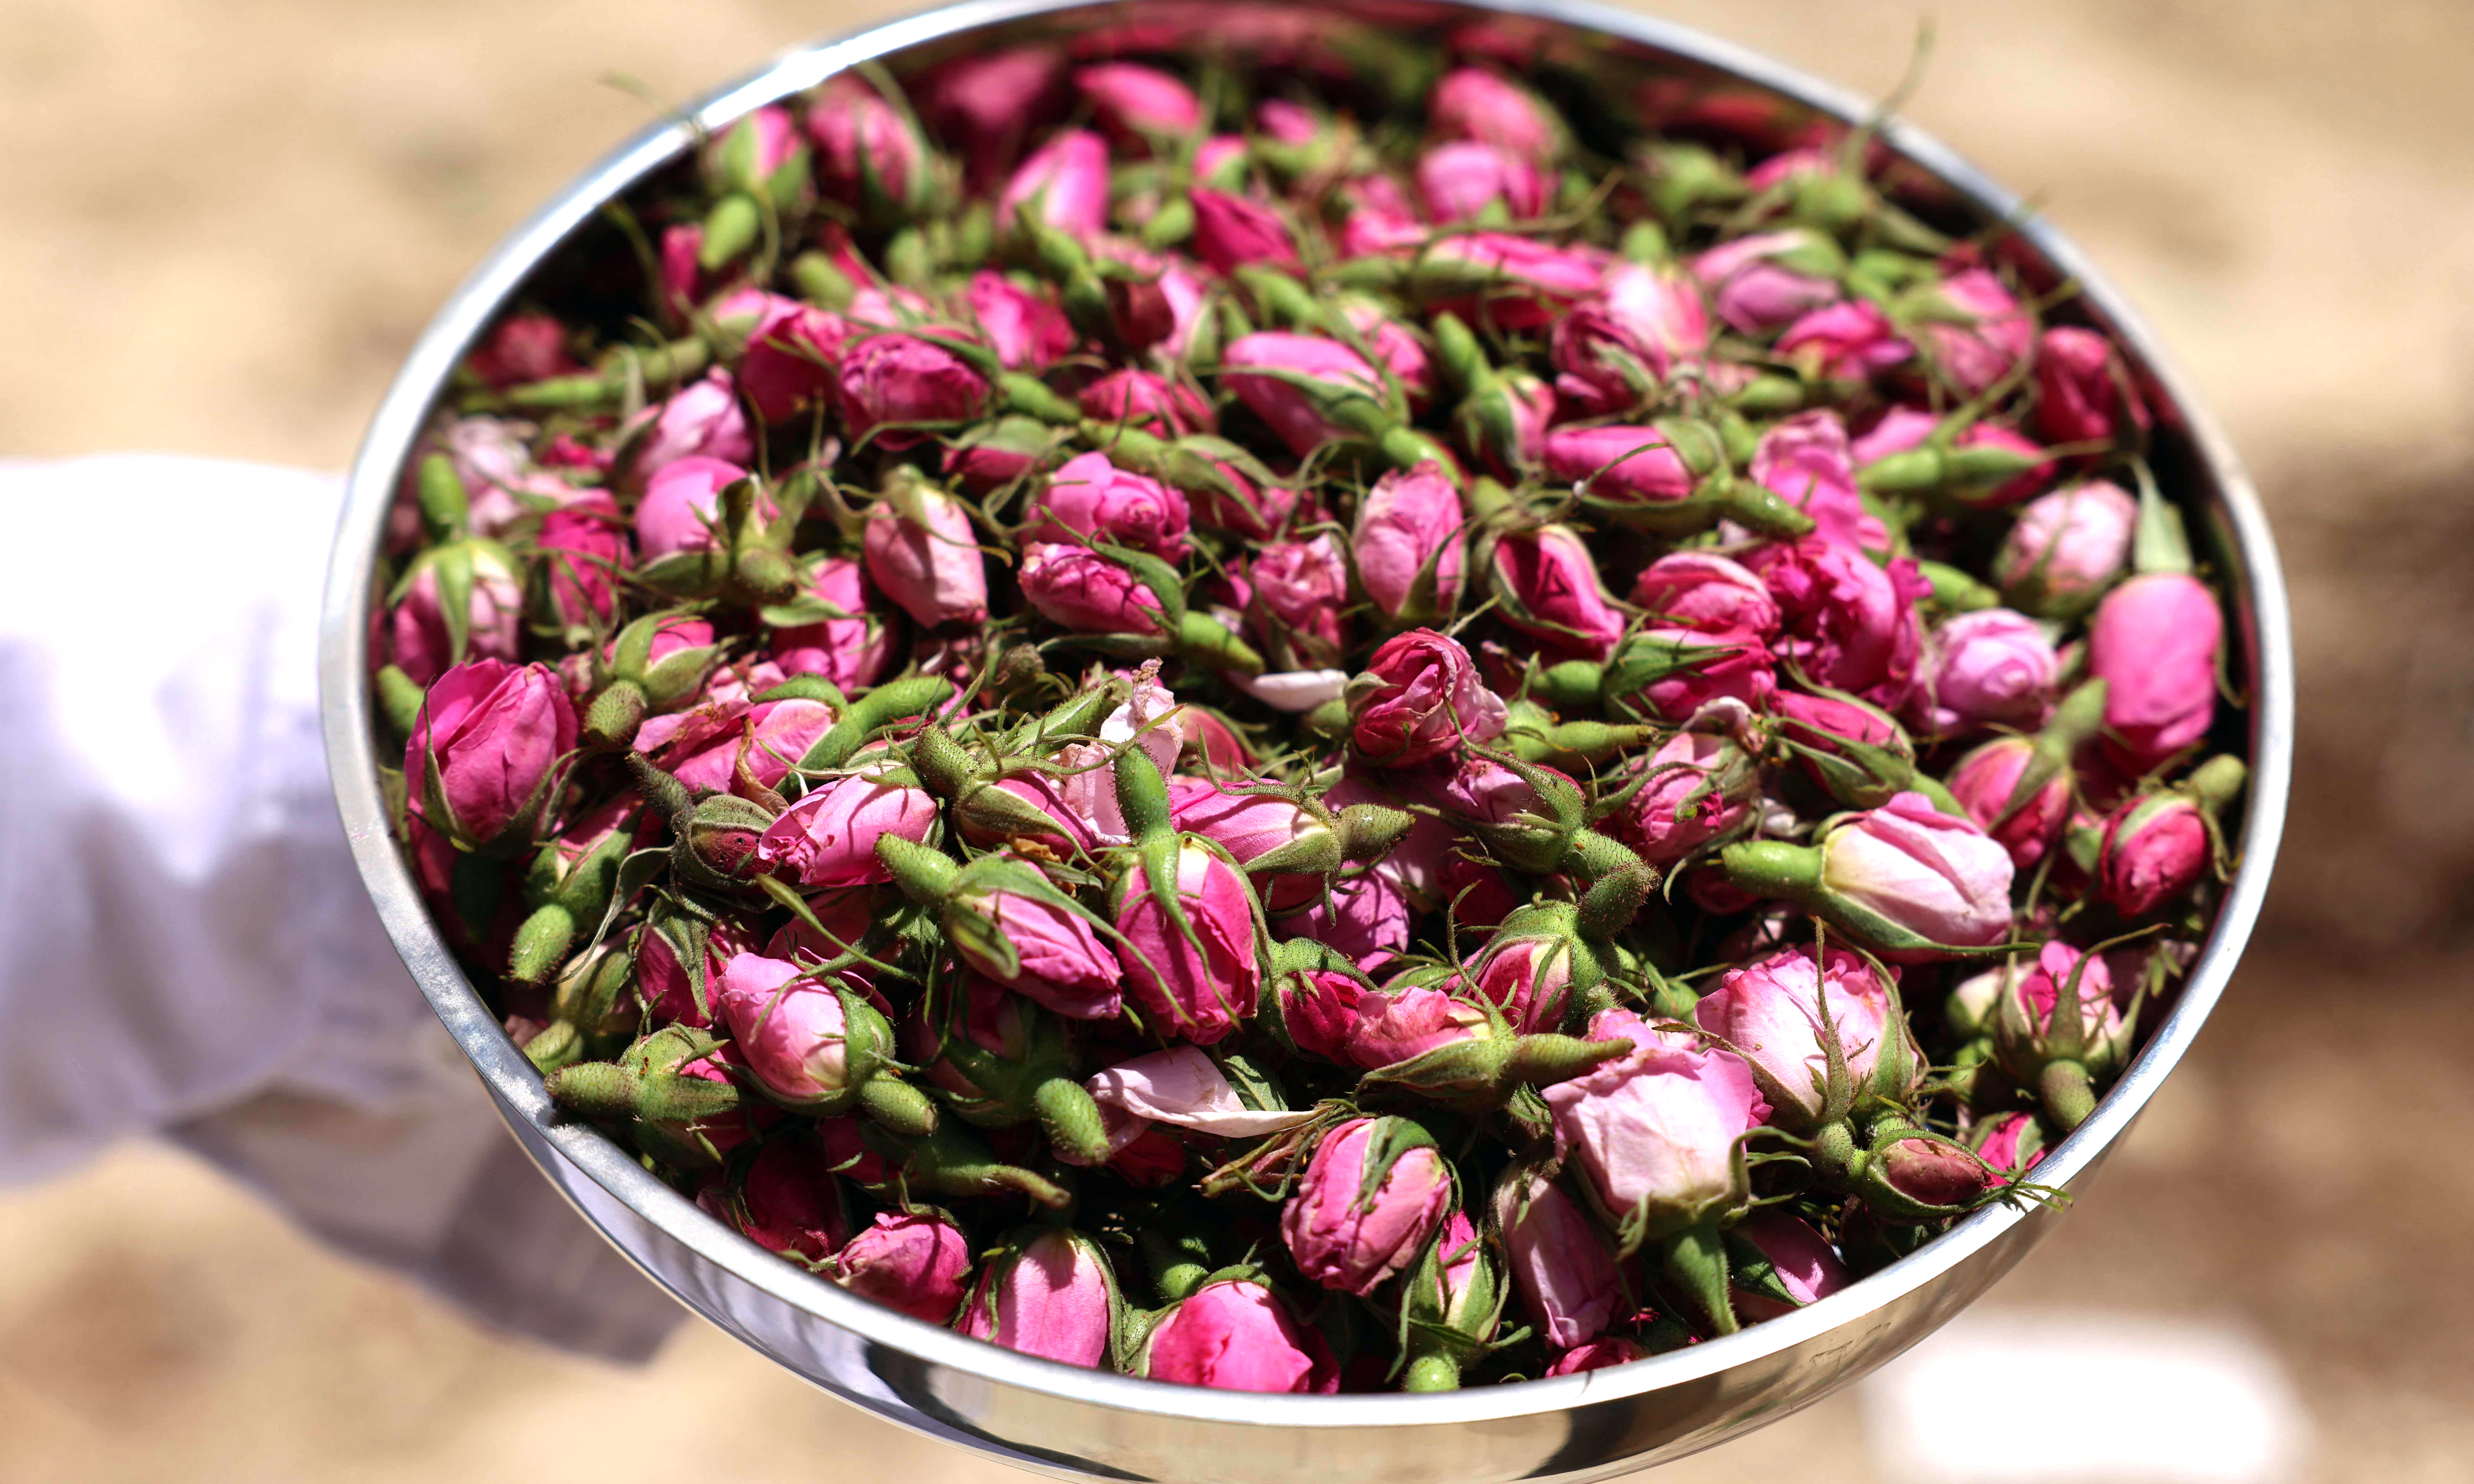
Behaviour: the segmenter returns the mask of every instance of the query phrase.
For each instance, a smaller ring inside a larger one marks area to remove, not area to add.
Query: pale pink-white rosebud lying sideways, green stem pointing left
[[[1898,794],[1836,826],[1821,841],[1821,885],[1927,942],[1989,947],[2009,937],[2009,851],[1922,794]]]

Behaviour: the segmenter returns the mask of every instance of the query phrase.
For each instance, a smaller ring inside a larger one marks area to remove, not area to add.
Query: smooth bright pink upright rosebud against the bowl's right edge
[[[2088,675],[2105,683],[2105,752],[2142,774],[2217,720],[2217,594],[2187,571],[2150,571],[2105,594],[2088,621]]]

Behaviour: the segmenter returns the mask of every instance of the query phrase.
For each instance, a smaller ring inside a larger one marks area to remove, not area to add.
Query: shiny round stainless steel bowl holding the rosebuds
[[[1576,0],[970,0],[794,52],[715,94],[693,116],[703,129],[720,131],[740,114],[863,59],[881,59],[903,74],[985,47],[1054,42],[1091,52],[1116,45],[1111,37],[1131,37],[1148,52],[1272,45],[1294,54],[1321,47],[1363,64],[1405,40],[1472,25],[1524,47],[1536,59],[1531,77],[1576,106],[1613,101],[1655,109],[1667,121],[1759,119],[1806,136],[1865,119],[1858,99],[1786,67]],[[1588,124],[1586,116],[1581,121]],[[690,146],[685,121],[648,129],[626,143],[510,235],[430,322],[351,470],[327,581],[322,650],[336,799],[396,950],[473,1059],[515,1138],[653,1281],[846,1402],[1056,1477],[1269,1484],[1311,1472],[1329,1484],[1475,1484],[1601,1479],[1784,1417],[1932,1333],[2051,1229],[2051,1209],[1984,1209],[1843,1294],[1737,1336],[1611,1370],[1450,1395],[1247,1395],[1034,1360],[905,1318],[755,1247],[601,1133],[559,1120],[542,1078],[448,952],[388,838],[364,648],[371,571],[403,467],[465,349],[529,275],[594,223],[601,203],[678,163]],[[2266,893],[2293,749],[2284,579],[2249,477],[2123,297],[2068,240],[2026,220],[2016,195],[1937,141],[1893,121],[1880,131],[1880,148],[1903,161],[1905,198],[1922,195],[1930,210],[1959,228],[2016,223],[2006,240],[2016,270],[2031,282],[2078,282],[2083,314],[2120,336],[2145,378],[2160,411],[2160,475],[2197,517],[2199,542],[2234,594],[2234,660],[2249,705],[2229,722],[2227,740],[2241,744],[2246,727],[2251,757],[2241,868],[2172,1012],[2095,1115],[2039,1165],[2039,1180],[2078,1187],[2199,1034]]]

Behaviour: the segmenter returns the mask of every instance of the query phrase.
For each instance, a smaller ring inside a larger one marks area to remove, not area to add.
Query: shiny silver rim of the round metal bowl
[[[1264,2],[1264,0],[1254,0]],[[1299,2],[1299,0],[1272,0]],[[1771,62],[1747,47],[1722,42],[1665,20],[1616,10],[1593,0],[1432,0],[1435,10],[1467,10],[1472,15],[1512,15],[1596,30],[1625,42],[1638,42],[1685,62],[1705,64],[1734,74],[1757,87],[1811,106],[1841,121],[1863,121],[1870,104],[1836,84],[1818,82],[1804,72]],[[354,863],[386,925],[396,952],[411,970],[416,984],[428,997],[438,1019],[455,1036],[473,1061],[475,1073],[510,1118],[524,1118],[547,1148],[576,1165],[611,1200],[633,1209],[653,1229],[690,1249],[700,1261],[725,1269],[742,1284],[792,1306],[816,1321],[851,1331],[878,1345],[903,1350],[933,1365],[980,1378],[985,1383],[1019,1388],[1066,1402],[1118,1407],[1173,1420],[1195,1422],[1244,1422],[1267,1427],[1304,1430],[1353,1430],[1353,1427],[1423,1427],[1445,1422],[1492,1422],[1566,1412],[1583,1402],[1635,1397],[1685,1383],[1695,1383],[1761,1358],[1791,1350],[1833,1328],[1860,1321],[1910,1294],[1917,1294],[1950,1269],[2001,1239],[2011,1227],[2029,1219],[2031,1209],[1989,1207],[1957,1222],[1950,1232],[1927,1242],[1915,1254],[1851,1284],[1846,1291],[1821,1298],[1794,1313],[1749,1326],[1734,1336],[1705,1341],[1685,1350],[1650,1355],[1625,1365],[1588,1370],[1581,1375],[1526,1380],[1519,1385],[1487,1385],[1442,1395],[1262,1395],[1225,1392],[1192,1385],[1163,1385],[1108,1370],[1086,1370],[1056,1360],[1022,1355],[985,1341],[965,1338],[943,1326],[933,1326],[866,1298],[846,1294],[829,1281],[782,1261],[772,1252],[747,1242],[727,1224],[680,1197],[648,1170],[636,1165],[626,1150],[584,1123],[562,1123],[542,1091],[542,1078],[524,1054],[507,1039],[505,1029],[482,1004],[463,974],[455,957],[435,932],[428,908],[393,843],[386,824],[386,806],[379,789],[376,749],[369,727],[369,596],[374,554],[393,505],[398,470],[408,460],[435,393],[460,364],[465,349],[495,317],[500,304],[562,245],[586,225],[601,200],[633,188],[638,181],[666,166],[680,148],[690,146],[695,129],[717,131],[740,114],[769,104],[784,94],[816,87],[826,77],[844,72],[871,57],[883,57],[920,42],[933,42],[975,27],[1017,22],[1074,10],[1126,10],[1123,0],[965,0],[918,15],[888,20],[858,30],[844,40],[792,49],[750,77],[715,89],[703,101],[680,111],[678,119],[653,124],[631,141],[586,168],[529,220],[515,228],[475,267],[465,282],[445,299],[423,329],[413,351],[386,391],[369,423],[346,477],[344,510],[336,524],[334,554],[327,571],[327,594],[319,643],[319,688],[324,712],[327,759],[351,841]],[[693,124],[690,124],[693,121]],[[2192,965],[2182,994],[2172,1012],[2150,1036],[2138,1061],[2115,1081],[2095,1113],[2056,1145],[2039,1165],[2039,1180],[2068,1187],[2086,1175],[2100,1155],[2118,1140],[2147,1098],[2155,1096],[2165,1076],[2180,1064],[2214,1009],[2234,972],[2236,960],[2259,918],[2269,876],[2284,831],[2286,789],[2293,762],[2293,653],[2291,618],[2286,608],[2284,571],[2276,544],[2269,534],[2266,514],[2251,487],[2241,460],[2214,418],[2192,396],[2185,373],[2160,346],[2155,331],[2140,319],[2130,302],[2078,252],[2078,247],[2029,215],[2024,203],[1967,163],[1950,146],[1930,134],[1890,119],[1880,124],[1880,139],[1895,153],[1937,176],[1974,208],[2016,223],[2016,232],[2061,275],[2076,279],[2083,302],[2108,324],[2108,329],[2142,364],[2152,386],[2177,408],[2185,433],[2197,458],[2209,467],[2229,524],[2229,537],[2246,569],[2249,608],[2244,611],[2236,589],[2236,633],[2249,618],[2251,675],[2251,777],[2241,819],[2241,866],[2227,885],[2197,962]],[[557,1182],[554,1182],[557,1185]],[[581,1209],[581,1207],[579,1207]],[[586,1212],[586,1219],[589,1212]],[[599,1229],[599,1222],[596,1222]],[[606,1232],[604,1232],[606,1237]],[[614,1247],[626,1254],[621,1244]],[[661,1276],[626,1254],[646,1276]],[[678,1296],[675,1286],[663,1284]],[[683,1298],[685,1301],[685,1298]],[[690,1303],[690,1308],[695,1308]]]

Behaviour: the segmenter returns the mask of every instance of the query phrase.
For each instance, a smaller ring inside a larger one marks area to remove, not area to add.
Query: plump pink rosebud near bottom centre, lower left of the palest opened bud
[[[1314,1148],[1279,1234],[1299,1274],[1363,1298],[1418,1261],[1450,1205],[1452,1172],[1423,1128],[1351,1118]]]

